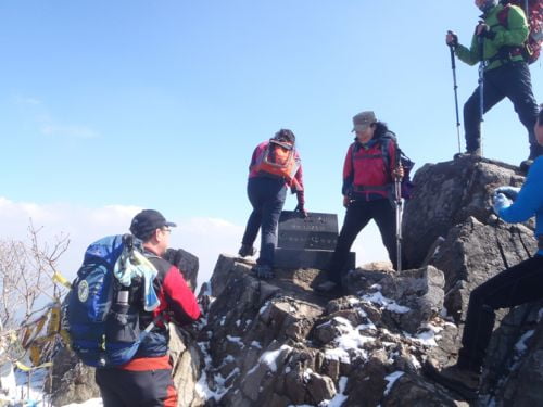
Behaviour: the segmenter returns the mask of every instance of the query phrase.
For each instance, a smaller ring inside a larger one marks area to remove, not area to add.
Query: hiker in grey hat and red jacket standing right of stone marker
[[[396,220],[394,202],[394,181],[405,175],[400,161],[401,151],[394,133],[387,124],[377,120],[374,112],[355,115],[353,126],[356,137],[348,149],[343,165],[342,194],[346,214],[327,270],[328,281],[316,288],[321,292],[342,289],[341,280],[346,271],[344,266],[351,246],[371,219],[379,228],[393,268],[397,270],[401,263],[396,238],[401,236],[402,226]]]

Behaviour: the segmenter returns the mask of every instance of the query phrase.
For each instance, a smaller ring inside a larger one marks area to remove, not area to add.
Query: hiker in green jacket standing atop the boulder
[[[464,105],[464,130],[466,153],[462,155],[482,155],[481,123],[483,114],[508,98],[517,112],[520,122],[528,131],[530,153],[528,160],[520,164],[527,169],[533,160],[543,154],[543,148],[538,144],[533,126],[538,116],[538,104],[532,92],[532,84],[528,63],[533,62],[541,47],[541,38],[535,39],[530,34],[530,25],[517,1],[475,0],[482,11],[481,21],[475,29],[469,48],[458,42],[458,36],[449,31],[446,44],[454,50],[456,56],[468,65],[480,64],[479,86]],[[528,2],[527,2],[528,3]],[[530,0],[531,10],[541,13],[541,1]],[[530,10],[528,11],[530,12]],[[541,14],[539,28],[541,30]],[[541,33],[540,33],[541,35]],[[531,48],[527,51],[527,46]]]

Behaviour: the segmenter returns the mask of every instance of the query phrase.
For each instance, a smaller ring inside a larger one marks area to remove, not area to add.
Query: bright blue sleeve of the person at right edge
[[[543,160],[534,161],[517,199],[500,211],[500,217],[510,224],[530,219],[543,206]]]

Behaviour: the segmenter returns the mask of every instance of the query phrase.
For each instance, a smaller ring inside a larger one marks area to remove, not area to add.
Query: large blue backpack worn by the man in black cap
[[[85,252],[67,295],[66,319],[72,347],[86,365],[109,368],[129,361],[154,326],[140,331],[141,281],[122,287],[113,274],[119,256],[134,250],[134,237],[124,234],[100,239]]]

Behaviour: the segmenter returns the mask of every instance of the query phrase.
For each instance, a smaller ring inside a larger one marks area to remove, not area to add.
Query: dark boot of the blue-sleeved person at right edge
[[[452,390],[467,400],[478,398],[478,389],[481,374],[478,371],[458,366],[458,364],[439,370],[432,363],[427,361],[424,372],[442,386]]]

